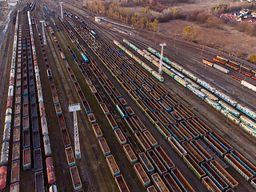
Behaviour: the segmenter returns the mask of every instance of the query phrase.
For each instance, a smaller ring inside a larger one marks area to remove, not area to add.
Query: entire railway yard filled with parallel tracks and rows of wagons
[[[70,2],[63,18],[55,1],[15,7],[0,53],[0,190],[255,191],[256,67],[94,16]]]

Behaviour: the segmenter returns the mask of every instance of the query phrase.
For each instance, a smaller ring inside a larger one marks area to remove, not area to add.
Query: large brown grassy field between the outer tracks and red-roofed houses
[[[218,30],[199,26],[195,22],[172,20],[170,22],[161,23],[160,30],[170,35],[178,34],[182,36],[186,26],[196,27],[196,39],[199,42],[203,42],[206,46],[215,46],[228,52],[233,50],[238,53],[256,53],[256,37],[234,30],[231,26],[225,26],[224,30]]]

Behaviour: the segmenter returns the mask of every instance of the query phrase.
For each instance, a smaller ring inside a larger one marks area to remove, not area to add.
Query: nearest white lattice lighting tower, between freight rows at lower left
[[[74,154],[75,158],[81,158],[77,111],[81,110],[80,103],[70,104],[69,111],[74,113]]]

